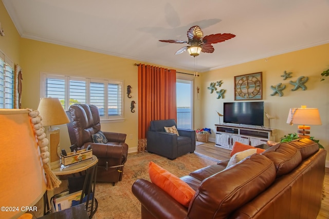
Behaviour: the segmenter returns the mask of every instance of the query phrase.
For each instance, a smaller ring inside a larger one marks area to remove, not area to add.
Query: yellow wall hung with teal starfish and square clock
[[[276,141],[280,141],[280,137],[285,134],[297,132],[297,125],[286,124],[289,109],[306,105],[309,108],[319,108],[322,126],[312,126],[311,136],[320,140],[326,150],[329,150],[329,78],[320,82],[321,72],[329,68],[327,51],[329,51],[329,44],[202,73],[200,77],[202,80],[202,85],[200,85],[202,87],[200,91],[200,98],[202,98],[200,116],[202,119],[200,121],[202,122],[196,126],[214,129],[214,124],[219,122],[215,110],[223,113],[223,102],[234,101],[234,76],[263,72],[263,101],[265,111],[271,116],[275,116],[270,123],[271,128],[278,129]],[[280,76],[284,71],[293,72],[291,74],[293,77],[284,81]],[[309,77],[305,83],[307,90],[303,91],[299,88],[291,91],[294,86],[290,85],[289,81],[296,81],[300,76]],[[211,94],[207,89],[211,82],[220,80],[224,82],[221,89],[226,89],[224,99],[216,99],[216,94]],[[284,95],[282,97],[278,94],[271,96],[273,90],[270,86],[279,83],[286,85],[286,89],[283,90]],[[221,122],[223,122],[223,117]],[[265,127],[268,127],[267,117],[264,117],[264,123]],[[214,140],[214,132],[210,137]]]

